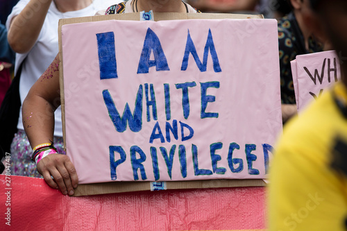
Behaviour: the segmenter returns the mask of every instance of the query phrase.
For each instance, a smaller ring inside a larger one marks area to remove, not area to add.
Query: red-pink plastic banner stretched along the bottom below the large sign
[[[40,178],[8,178],[0,175],[0,230],[265,230],[263,187],[77,198]]]

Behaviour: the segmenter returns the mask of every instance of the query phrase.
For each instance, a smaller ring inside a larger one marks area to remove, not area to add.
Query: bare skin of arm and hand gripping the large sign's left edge
[[[54,111],[60,105],[59,56],[31,87],[23,103],[23,125],[32,147],[53,141]],[[69,157],[51,154],[37,163],[47,184],[62,194],[74,194],[78,177]],[[53,176],[54,180],[52,180]]]

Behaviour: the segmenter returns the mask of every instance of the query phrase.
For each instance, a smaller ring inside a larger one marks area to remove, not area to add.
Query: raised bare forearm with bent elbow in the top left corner
[[[16,17],[8,30],[8,43],[13,51],[26,53],[33,48],[40,35],[52,0],[31,0]]]

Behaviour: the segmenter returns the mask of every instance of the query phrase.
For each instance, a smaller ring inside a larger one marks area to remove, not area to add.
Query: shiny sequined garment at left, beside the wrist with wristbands
[[[54,137],[54,146],[58,153],[65,154],[62,137]],[[24,130],[18,130],[11,144],[11,174],[15,176],[31,176],[42,178],[38,173],[36,164],[31,160],[33,150],[28,141]]]

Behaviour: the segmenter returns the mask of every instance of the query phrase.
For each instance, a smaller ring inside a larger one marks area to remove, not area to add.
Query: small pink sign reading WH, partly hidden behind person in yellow
[[[298,112],[323,94],[341,78],[339,58],[335,51],[297,55],[291,61],[294,91]]]

